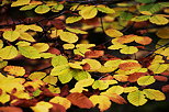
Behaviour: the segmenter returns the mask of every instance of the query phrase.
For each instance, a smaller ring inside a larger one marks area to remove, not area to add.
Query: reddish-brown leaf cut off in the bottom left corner
[[[1,107],[0,112],[23,112],[20,108],[15,107]]]

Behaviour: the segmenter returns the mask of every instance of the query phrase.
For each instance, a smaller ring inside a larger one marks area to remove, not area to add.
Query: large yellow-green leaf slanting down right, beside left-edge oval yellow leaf
[[[18,46],[20,53],[31,59],[41,58],[41,55],[36,48],[33,46]]]

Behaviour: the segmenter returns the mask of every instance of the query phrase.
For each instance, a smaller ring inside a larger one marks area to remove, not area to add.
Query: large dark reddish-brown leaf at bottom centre
[[[74,105],[79,108],[90,109],[93,107],[92,102],[82,93],[70,93],[67,99],[71,101]]]

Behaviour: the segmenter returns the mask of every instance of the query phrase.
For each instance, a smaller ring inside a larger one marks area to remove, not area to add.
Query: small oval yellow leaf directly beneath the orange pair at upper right
[[[125,46],[120,52],[122,54],[134,54],[138,52],[138,48],[135,46]]]

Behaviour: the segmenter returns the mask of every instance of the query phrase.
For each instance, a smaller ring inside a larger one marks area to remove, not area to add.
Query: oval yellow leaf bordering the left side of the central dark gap
[[[59,34],[60,40],[67,43],[76,43],[78,41],[78,36],[70,32],[63,32]]]

